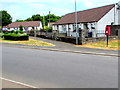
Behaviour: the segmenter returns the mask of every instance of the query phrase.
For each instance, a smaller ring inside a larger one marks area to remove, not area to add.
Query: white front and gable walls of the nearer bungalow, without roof
[[[120,11],[119,11],[120,12]],[[98,22],[88,22],[88,23],[79,23],[78,28],[81,28],[85,30],[85,24],[87,24],[88,29],[86,29],[86,35],[90,32],[92,32],[92,37],[104,37],[105,36],[105,27],[106,25],[111,25],[111,24],[118,24],[120,23],[120,20],[118,22],[118,12],[116,11],[116,7],[112,8],[105,16],[103,16]],[[63,33],[64,32],[64,26],[63,25],[58,25],[59,32]],[[92,28],[95,27],[94,29]],[[70,28],[70,32],[74,31],[74,24],[66,24],[66,31],[68,31],[68,28]],[[56,27],[54,26],[54,29]],[[74,35],[75,36],[75,35]]]

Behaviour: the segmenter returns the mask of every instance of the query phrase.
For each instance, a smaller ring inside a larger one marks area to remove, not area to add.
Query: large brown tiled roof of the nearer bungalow
[[[89,10],[79,11],[78,14],[78,23],[80,22],[97,22],[99,21],[106,13],[108,13],[115,5],[107,5],[103,7],[93,8]],[[70,13],[63,16],[55,24],[70,24],[75,23],[75,13]]]

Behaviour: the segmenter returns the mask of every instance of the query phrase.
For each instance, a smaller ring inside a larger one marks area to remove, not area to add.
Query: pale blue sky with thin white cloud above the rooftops
[[[118,3],[119,0],[76,0],[77,11]],[[32,15],[55,14],[63,16],[75,11],[75,0],[0,0],[0,11],[6,10],[16,20]]]

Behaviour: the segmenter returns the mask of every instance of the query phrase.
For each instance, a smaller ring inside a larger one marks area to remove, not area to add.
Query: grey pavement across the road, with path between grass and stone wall
[[[93,54],[93,55],[104,55],[104,56],[120,56],[118,55],[118,50],[106,50],[106,49],[95,49],[87,47],[77,47],[74,44],[65,43],[61,41],[55,41],[50,39],[43,39],[38,37],[30,37],[39,41],[44,41],[56,45],[55,47],[46,47],[46,46],[32,46],[32,45],[20,45],[20,44],[8,44],[3,43],[5,46],[14,46],[22,48],[32,48],[40,50],[50,50],[50,51],[61,51],[61,52],[71,52],[71,53],[80,53],[80,54]]]

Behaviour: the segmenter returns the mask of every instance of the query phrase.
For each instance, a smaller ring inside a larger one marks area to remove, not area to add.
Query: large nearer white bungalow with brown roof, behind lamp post
[[[104,37],[106,25],[120,24],[118,11],[120,12],[117,4],[78,11],[78,28],[85,31],[85,37]],[[59,33],[67,33],[67,36],[76,37],[75,13],[63,16],[54,23],[53,30],[58,30]]]

